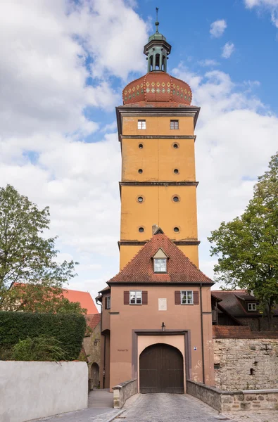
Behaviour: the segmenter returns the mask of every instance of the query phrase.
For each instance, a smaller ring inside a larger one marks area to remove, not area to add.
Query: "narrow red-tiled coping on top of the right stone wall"
[[[213,338],[278,338],[278,332],[251,331],[249,326],[213,326]]]

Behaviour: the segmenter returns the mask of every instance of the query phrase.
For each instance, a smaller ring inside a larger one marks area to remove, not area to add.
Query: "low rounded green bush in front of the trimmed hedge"
[[[19,340],[13,346],[12,360],[20,361],[61,361],[68,360],[67,352],[62,349],[61,341],[55,337],[39,335],[39,337]]]

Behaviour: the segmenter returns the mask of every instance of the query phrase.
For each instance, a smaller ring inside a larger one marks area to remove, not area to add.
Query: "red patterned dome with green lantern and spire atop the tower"
[[[157,106],[190,106],[192,92],[189,85],[167,73],[167,60],[171,46],[158,31],[158,8],[156,8],[156,32],[144,46],[148,60],[148,73],[136,79],[123,89],[125,105],[135,103],[157,103]],[[171,104],[170,104],[171,103]],[[151,104],[150,104],[151,105]]]

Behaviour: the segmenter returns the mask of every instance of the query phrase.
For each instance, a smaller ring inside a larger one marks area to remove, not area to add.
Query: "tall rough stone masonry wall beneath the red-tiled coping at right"
[[[215,338],[215,387],[278,388],[278,338]]]

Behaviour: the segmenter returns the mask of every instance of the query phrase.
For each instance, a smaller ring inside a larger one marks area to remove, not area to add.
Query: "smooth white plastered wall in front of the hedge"
[[[86,362],[0,361],[0,421],[25,422],[84,409]]]

